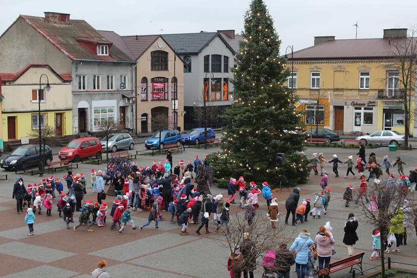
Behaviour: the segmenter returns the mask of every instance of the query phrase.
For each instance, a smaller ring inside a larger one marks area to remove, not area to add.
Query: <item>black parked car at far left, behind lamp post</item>
[[[48,146],[45,146],[43,151],[43,159],[45,162],[51,162],[53,159],[52,150]],[[39,163],[39,146],[24,145],[16,148],[4,159],[0,160],[0,167],[6,170],[25,170],[30,167],[38,166]]]

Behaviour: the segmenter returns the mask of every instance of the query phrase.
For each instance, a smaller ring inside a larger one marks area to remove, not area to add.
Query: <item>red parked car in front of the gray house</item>
[[[58,154],[60,160],[72,160],[78,162],[88,157],[102,158],[102,143],[96,137],[83,137],[74,139],[61,149]]]

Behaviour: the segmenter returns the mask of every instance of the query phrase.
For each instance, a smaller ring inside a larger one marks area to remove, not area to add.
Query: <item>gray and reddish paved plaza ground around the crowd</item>
[[[204,157],[206,154],[217,151],[217,148],[208,150],[190,148],[183,153],[173,153],[174,163],[183,160],[192,160],[196,154]],[[417,166],[417,151],[396,151],[388,152],[387,147],[373,150],[377,154],[378,161],[386,154],[393,161],[398,155],[402,160],[407,162],[405,172]],[[341,148],[315,148],[310,147],[306,155],[311,157],[311,153],[323,152],[327,158],[331,158],[337,153],[342,161],[346,161],[349,155],[356,154],[356,149]],[[370,150],[366,150],[368,155]],[[56,158],[55,158],[56,159]],[[151,165],[152,161],[163,161],[164,155],[160,156],[137,156],[138,165]],[[103,168],[100,166],[81,164],[74,173],[89,173],[91,168],[96,170]],[[365,252],[363,268],[367,269],[376,266],[379,261],[370,261],[369,256],[372,250],[372,229],[373,226],[366,223],[361,216],[361,211],[351,206],[345,208],[342,200],[343,192],[349,183],[355,187],[359,186],[357,179],[343,178],[346,173],[346,164],[339,167],[341,177],[334,177],[331,172],[331,165],[327,167],[329,172],[329,186],[332,191],[331,202],[328,214],[321,219],[309,218],[308,222],[297,226],[286,226],[283,237],[292,236],[292,240],[298,235],[302,228],[306,228],[314,239],[318,227],[324,225],[326,221],[331,221],[333,226],[333,235],[336,240],[335,249],[337,253],[332,256],[332,261],[347,257],[347,248],[342,243],[343,226],[347,215],[354,212],[359,221],[357,229],[359,242],[355,246],[355,252]],[[4,172],[0,170],[0,172]],[[395,174],[395,169],[392,169]],[[116,230],[110,230],[110,223],[105,227],[94,226],[94,233],[87,233],[85,226],[80,227],[76,232],[66,229],[62,218],[58,217],[56,201],[52,217],[36,214],[34,225],[35,236],[28,237],[28,228],[24,221],[24,213],[16,214],[16,202],[13,200],[12,191],[16,175],[8,172],[9,179],[0,181],[0,273],[6,277],[90,277],[91,271],[97,267],[100,259],[106,259],[108,262],[108,272],[112,277],[228,277],[226,269],[228,249],[224,247],[224,238],[216,235],[198,236],[194,233],[197,228],[190,225],[190,235],[180,236],[179,227],[176,224],[170,224],[168,221],[160,222],[160,229],[155,229],[154,224],[145,227],[143,231],[132,230],[130,226],[125,229],[123,235],[118,235]],[[54,174],[62,178],[64,172]],[[38,182],[38,176],[23,174],[25,184]],[[386,174],[385,174],[386,177]],[[228,178],[228,177],[225,177]],[[88,180],[88,179],[87,179]],[[318,192],[320,187],[320,176],[311,176],[307,184],[301,184],[300,202],[303,198],[312,198],[312,194]],[[66,187],[66,184],[64,184]],[[292,189],[290,189],[292,191]],[[95,200],[91,194],[91,185],[88,184],[87,196],[85,199]],[[225,189],[212,189],[212,194],[227,195]],[[275,192],[274,197],[279,199],[279,210],[281,213],[280,224],[284,223],[285,200],[289,195],[287,189],[282,192]],[[111,197],[106,200],[109,204]],[[265,200],[260,197],[259,214],[266,213]],[[237,205],[232,205],[232,210],[242,213]],[[110,213],[110,209],[109,209]],[[169,219],[168,213],[163,212],[166,219]],[[132,212],[132,218],[135,224],[140,225],[148,218],[148,212]],[[78,222],[76,213],[74,221]],[[76,224],[75,223],[75,224]],[[73,223],[71,223],[73,225]],[[211,221],[214,227],[213,221]],[[280,240],[280,238],[277,238]],[[292,242],[291,240],[291,242]],[[291,244],[289,242],[289,244]],[[417,264],[416,254],[416,236],[413,228],[408,229],[407,246],[401,246],[401,252],[391,254],[391,258],[396,262],[405,262]],[[393,264],[396,267],[396,264]],[[413,269],[409,265],[401,265],[400,268]],[[258,267],[256,277],[261,276],[261,268]],[[347,271],[340,274],[334,274],[332,277],[345,277]],[[294,277],[295,272],[291,272]]]

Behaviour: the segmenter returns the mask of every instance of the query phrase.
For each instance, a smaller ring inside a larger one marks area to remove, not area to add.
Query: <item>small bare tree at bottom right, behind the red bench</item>
[[[368,186],[366,192],[354,191],[357,206],[363,210],[363,216],[370,224],[374,224],[381,234],[381,276],[385,277],[384,242],[389,235],[391,225],[413,225],[414,208],[417,205],[416,197],[409,194],[402,182],[393,177],[381,180]],[[370,205],[366,202],[370,200]],[[376,206],[376,207],[375,207]],[[404,221],[397,223],[397,214],[404,213]]]

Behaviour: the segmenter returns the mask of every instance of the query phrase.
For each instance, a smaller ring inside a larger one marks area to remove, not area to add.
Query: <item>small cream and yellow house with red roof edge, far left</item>
[[[42,76],[42,77],[41,77]],[[45,90],[48,77],[51,89]],[[41,126],[52,126],[57,137],[72,135],[70,73],[59,74],[49,65],[29,64],[17,73],[0,73],[2,80],[3,140],[20,143],[38,129],[38,97]],[[41,89],[39,94],[39,78]]]

